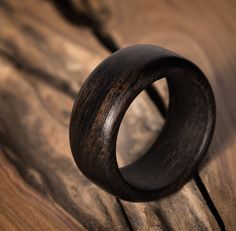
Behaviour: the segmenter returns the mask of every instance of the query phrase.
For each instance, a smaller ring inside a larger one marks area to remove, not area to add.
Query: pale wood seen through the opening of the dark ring
[[[165,78],[152,85],[160,94],[166,110],[169,105],[169,91]],[[146,153],[157,139],[165,118],[157,105],[142,91],[129,106],[120,125],[116,157],[119,168],[125,167],[138,160]]]

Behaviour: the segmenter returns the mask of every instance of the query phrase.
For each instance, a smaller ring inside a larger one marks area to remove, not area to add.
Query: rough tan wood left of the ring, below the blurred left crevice
[[[1,139],[12,150],[11,155],[6,153],[8,159],[28,184],[85,228],[128,229],[116,200],[88,182],[74,165],[67,126],[61,123],[71,100],[44,83],[25,80],[27,76],[13,72],[12,67],[10,70],[1,77],[0,97]],[[61,105],[55,106],[57,100]],[[54,116],[57,112],[61,114]]]

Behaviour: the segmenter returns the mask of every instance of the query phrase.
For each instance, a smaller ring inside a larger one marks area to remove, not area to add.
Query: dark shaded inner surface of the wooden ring
[[[123,178],[144,191],[167,187],[191,175],[206,140],[209,110],[204,90],[188,76],[167,77],[169,110],[153,146],[120,169]]]

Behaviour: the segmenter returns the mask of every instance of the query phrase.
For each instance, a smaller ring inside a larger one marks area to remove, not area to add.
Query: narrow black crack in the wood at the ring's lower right
[[[194,181],[199,189],[199,191],[201,192],[202,196],[204,197],[205,201],[206,201],[206,204],[207,206],[209,207],[209,209],[211,210],[211,213],[213,214],[213,216],[215,217],[218,225],[220,226],[220,229],[222,231],[225,231],[225,225],[224,225],[224,222],[217,210],[217,208],[215,207],[204,183],[202,182],[200,176],[199,176],[199,173],[196,173],[195,176],[194,176]]]

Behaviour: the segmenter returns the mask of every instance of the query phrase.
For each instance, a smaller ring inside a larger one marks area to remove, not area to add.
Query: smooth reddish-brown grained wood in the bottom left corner
[[[32,190],[7,161],[2,150],[0,176],[0,230],[84,230],[63,209]]]

